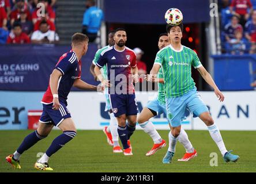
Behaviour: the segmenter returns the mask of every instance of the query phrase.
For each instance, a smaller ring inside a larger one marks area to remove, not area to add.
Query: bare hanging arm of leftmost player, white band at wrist
[[[54,97],[52,102],[52,109],[54,110],[59,110],[59,98],[58,98],[58,82],[59,78],[62,76],[62,73],[54,69],[50,75],[50,88],[51,88],[51,93],[52,96]]]

